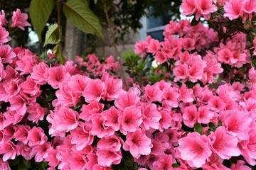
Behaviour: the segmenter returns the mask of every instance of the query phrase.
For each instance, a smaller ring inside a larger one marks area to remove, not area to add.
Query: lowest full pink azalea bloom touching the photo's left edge
[[[13,142],[4,142],[0,145],[0,154],[3,155],[3,161],[6,162],[8,159],[15,159],[16,147]]]

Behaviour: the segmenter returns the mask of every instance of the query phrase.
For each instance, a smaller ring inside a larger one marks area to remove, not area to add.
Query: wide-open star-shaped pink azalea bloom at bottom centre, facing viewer
[[[151,139],[142,130],[128,132],[127,140],[124,142],[123,149],[129,151],[133,157],[148,155],[151,152]]]

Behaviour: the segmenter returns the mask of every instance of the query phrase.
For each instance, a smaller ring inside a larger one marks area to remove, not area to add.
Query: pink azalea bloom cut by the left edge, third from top
[[[11,63],[16,57],[10,45],[0,45],[0,58],[2,63]]]

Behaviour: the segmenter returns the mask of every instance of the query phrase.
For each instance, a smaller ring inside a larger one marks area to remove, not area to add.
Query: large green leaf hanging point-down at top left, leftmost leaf
[[[54,0],[32,0],[29,6],[29,16],[33,27],[36,28],[39,41],[41,42],[41,33],[46,26],[46,22],[53,11]]]

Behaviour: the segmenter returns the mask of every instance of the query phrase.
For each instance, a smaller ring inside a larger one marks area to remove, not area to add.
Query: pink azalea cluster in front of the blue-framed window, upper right
[[[217,41],[218,33],[202,23],[191,26],[188,20],[179,23],[170,21],[164,30],[163,42],[148,37],[146,41],[135,44],[134,52],[142,57],[152,54],[159,64],[167,63],[174,72],[174,81],[201,81],[206,84],[213,83],[216,74],[223,72],[222,61],[210,55],[211,51],[208,50]],[[240,63],[244,64],[245,61]]]

